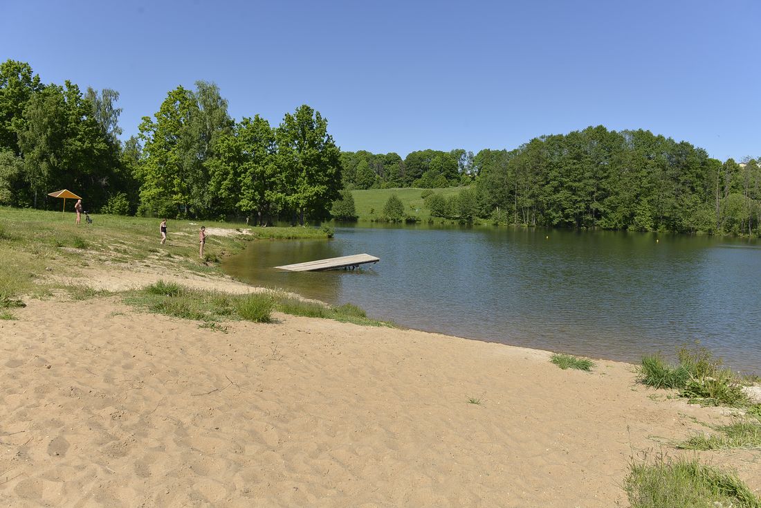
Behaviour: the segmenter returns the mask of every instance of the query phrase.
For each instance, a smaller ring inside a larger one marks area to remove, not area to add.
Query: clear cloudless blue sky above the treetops
[[[589,125],[761,155],[761,2],[14,2],[0,59],[114,88],[125,137],[214,81],[233,117],[309,104],[344,150],[513,149]]]

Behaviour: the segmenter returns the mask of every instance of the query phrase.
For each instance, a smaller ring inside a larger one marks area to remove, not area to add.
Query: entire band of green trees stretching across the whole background
[[[139,135],[119,136],[119,92],[43,84],[25,62],[0,64],[0,204],[53,209],[67,188],[91,212],[170,218],[248,217],[253,224],[351,219],[349,190],[428,191],[431,216],[458,222],[761,234],[761,169],[718,161],[647,130],[590,126],[515,149],[341,152],[307,105],[278,126],[234,120],[219,88],[168,91]],[[344,192],[342,192],[342,190]],[[384,207],[378,219],[415,221]],[[331,214],[333,210],[333,214]],[[353,214],[355,216],[355,214]]]

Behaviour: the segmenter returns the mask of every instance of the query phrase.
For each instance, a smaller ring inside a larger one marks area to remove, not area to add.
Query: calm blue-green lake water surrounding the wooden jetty
[[[380,262],[357,272],[272,268],[363,252]],[[339,227],[330,240],[251,242],[224,270],[420,330],[632,362],[699,340],[733,369],[761,373],[759,241]]]

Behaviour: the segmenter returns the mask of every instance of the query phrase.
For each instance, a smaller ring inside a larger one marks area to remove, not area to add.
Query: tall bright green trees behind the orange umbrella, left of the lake
[[[178,86],[121,142],[119,93],[43,85],[25,62],[0,64],[0,204],[52,208],[52,190],[81,193],[107,213],[255,223],[330,217],[340,152],[327,120],[307,105],[272,127],[239,122],[218,87]]]

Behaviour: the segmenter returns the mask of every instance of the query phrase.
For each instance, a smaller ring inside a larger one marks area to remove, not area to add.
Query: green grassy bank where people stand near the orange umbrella
[[[49,292],[54,284],[45,281],[48,272],[74,272],[98,262],[129,264],[148,257],[167,257],[174,264],[204,273],[218,272],[218,261],[241,251],[248,241],[267,238],[327,238],[319,228],[247,228],[247,235],[209,235],[205,259],[199,259],[198,232],[223,228],[235,232],[239,225],[224,222],[170,220],[168,239],[159,244],[161,219],[98,215],[88,225],[82,218],[75,224],[72,212],[0,207],[0,299],[3,296]]]

